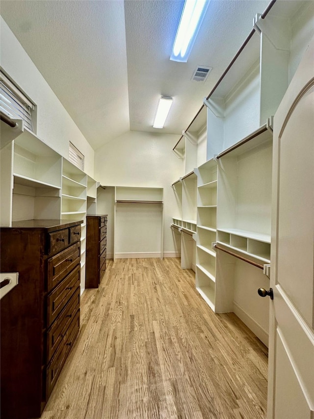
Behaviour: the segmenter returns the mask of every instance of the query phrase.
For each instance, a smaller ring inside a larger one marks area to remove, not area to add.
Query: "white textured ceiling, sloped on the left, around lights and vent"
[[[97,149],[130,129],[180,136],[267,4],[211,0],[187,63],[169,60],[181,0],[6,0],[1,15]],[[197,65],[213,67],[206,82]],[[160,95],[174,98],[162,130]]]

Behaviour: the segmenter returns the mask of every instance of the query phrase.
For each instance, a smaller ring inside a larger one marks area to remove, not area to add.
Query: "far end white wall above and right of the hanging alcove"
[[[102,185],[164,188],[164,256],[176,251],[169,226],[176,208],[171,183],[183,175],[183,161],[172,152],[177,141],[176,135],[129,132],[95,152]],[[97,208],[102,212],[101,199]]]

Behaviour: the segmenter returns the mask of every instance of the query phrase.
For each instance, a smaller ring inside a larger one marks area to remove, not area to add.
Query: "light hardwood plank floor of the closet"
[[[267,348],[179,259],[109,261],[43,419],[265,418]]]

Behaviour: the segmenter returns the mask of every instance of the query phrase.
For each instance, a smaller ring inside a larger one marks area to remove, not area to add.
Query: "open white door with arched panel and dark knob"
[[[268,418],[314,419],[314,43],[274,117]]]

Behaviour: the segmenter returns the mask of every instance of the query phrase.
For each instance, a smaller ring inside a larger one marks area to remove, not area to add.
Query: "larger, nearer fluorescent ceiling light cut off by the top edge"
[[[185,0],[170,56],[172,61],[187,61],[208,5],[209,0]]]

